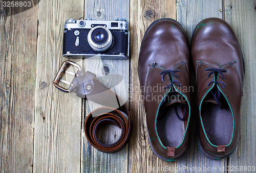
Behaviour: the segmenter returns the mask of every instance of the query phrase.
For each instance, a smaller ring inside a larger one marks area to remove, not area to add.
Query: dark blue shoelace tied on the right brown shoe
[[[216,76],[217,76],[218,74],[220,74],[220,75],[221,75],[221,78],[222,78],[223,80],[224,80],[224,75],[223,75],[222,72],[227,72],[226,69],[218,69],[218,68],[206,68],[204,71],[210,71],[207,78],[209,78],[211,74],[215,74]],[[210,84],[212,84],[212,83],[215,83],[216,85],[222,84],[222,88],[225,88],[225,86],[226,86],[225,83],[224,83],[224,82],[221,82],[221,81],[218,81],[218,82],[217,82],[217,81],[210,81],[210,82],[208,83],[207,87],[210,86]],[[214,98],[215,98],[217,104],[220,106],[220,108],[223,109],[222,106],[221,106],[221,104],[220,104],[220,102],[219,102],[219,99],[220,99],[220,97],[221,97],[220,90],[217,88],[215,92],[213,92],[212,90],[210,90],[210,92],[211,92],[212,96],[214,96]]]

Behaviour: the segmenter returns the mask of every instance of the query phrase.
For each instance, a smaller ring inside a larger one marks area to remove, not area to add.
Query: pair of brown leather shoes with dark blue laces
[[[200,151],[222,159],[235,149],[240,125],[244,62],[228,23],[207,18],[196,27],[191,58],[196,71]],[[174,19],[154,21],[146,30],[138,73],[146,111],[148,139],[163,160],[184,156],[189,146],[190,51]]]

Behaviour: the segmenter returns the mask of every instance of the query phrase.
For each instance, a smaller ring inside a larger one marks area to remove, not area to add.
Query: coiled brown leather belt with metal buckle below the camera
[[[77,67],[77,72],[67,71],[65,68],[68,64]],[[63,72],[75,76],[71,83],[60,79]],[[59,81],[68,84],[69,88],[65,89],[59,86]],[[84,122],[86,137],[97,150],[105,153],[115,153],[127,144],[132,134],[132,122],[129,110],[115,92],[96,79],[95,74],[89,71],[84,73],[78,64],[72,61],[65,61],[57,72],[53,84],[64,92],[75,92],[81,98],[87,98],[105,106],[92,111]],[[121,136],[112,144],[103,144],[97,139],[99,128],[106,124],[111,124],[121,129]]]

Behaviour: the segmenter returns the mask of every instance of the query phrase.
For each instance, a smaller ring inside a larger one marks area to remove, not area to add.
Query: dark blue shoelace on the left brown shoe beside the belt
[[[180,70],[173,70],[173,69],[168,69],[168,70],[163,70],[159,73],[159,75],[162,75],[162,81],[164,82],[164,77],[166,75],[173,75],[175,76],[177,79],[180,79],[179,76],[176,74],[176,72],[180,72]],[[173,84],[174,83],[177,83],[179,85],[179,87],[181,87],[180,85],[180,82],[177,81],[177,80],[173,80],[172,82],[170,82],[170,85],[166,85],[164,87],[164,89],[166,88],[169,88],[169,87],[173,87]],[[177,92],[175,89],[173,90],[173,92]],[[165,101],[165,98],[164,98],[164,101]],[[163,103],[163,102],[162,102]],[[178,113],[178,110],[177,110],[177,105],[175,105],[175,113],[176,113],[176,116],[180,119],[180,120],[184,120],[186,118],[186,110],[187,110],[187,105],[185,105],[185,110],[184,110],[184,116],[181,118],[179,113]]]

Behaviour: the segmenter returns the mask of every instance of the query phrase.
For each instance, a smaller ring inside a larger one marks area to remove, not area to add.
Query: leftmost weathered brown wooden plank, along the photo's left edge
[[[1,172],[33,169],[37,7],[18,10],[0,5]]]

